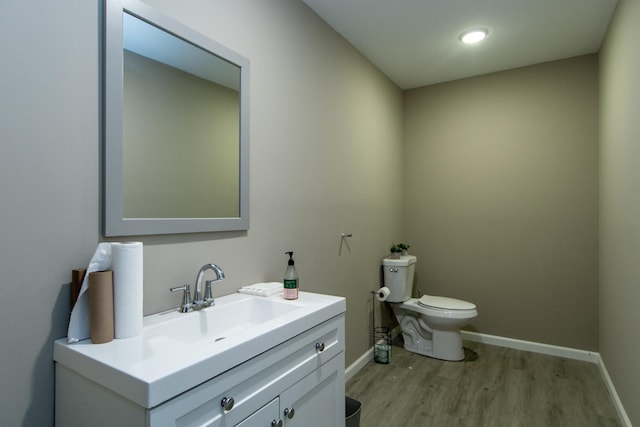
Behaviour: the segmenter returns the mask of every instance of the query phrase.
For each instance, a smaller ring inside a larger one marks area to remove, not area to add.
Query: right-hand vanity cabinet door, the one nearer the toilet
[[[344,353],[285,390],[280,417],[286,427],[344,426]]]

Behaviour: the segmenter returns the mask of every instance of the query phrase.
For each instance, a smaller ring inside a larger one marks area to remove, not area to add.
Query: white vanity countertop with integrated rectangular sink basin
[[[54,343],[55,362],[153,408],[178,393],[340,315],[345,299],[300,292],[294,301],[281,295],[231,294],[215,305],[144,318],[140,336],[106,344],[84,340]]]

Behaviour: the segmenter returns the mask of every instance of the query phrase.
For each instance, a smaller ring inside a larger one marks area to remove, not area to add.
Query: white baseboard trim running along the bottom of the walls
[[[611,377],[609,377],[609,373],[607,372],[607,368],[604,365],[604,361],[600,356],[600,353],[595,351],[588,350],[579,350],[570,347],[561,347],[556,345],[542,344],[532,341],[523,341],[514,338],[506,338],[499,337],[495,335],[487,335],[480,334],[477,332],[471,331],[460,331],[462,333],[462,339],[467,341],[480,342],[483,344],[491,344],[499,347],[507,347],[513,348],[516,350],[524,350],[530,351],[532,353],[542,353],[548,354],[550,356],[557,357],[565,357],[567,359],[581,360],[584,362],[591,362],[598,365],[600,369],[600,375],[609,391],[609,395],[611,396],[611,400],[613,401],[613,405],[616,408],[616,412],[618,413],[618,418],[620,422],[625,427],[633,427],[631,425],[631,420],[629,420],[629,416],[622,406],[622,402],[620,401],[620,397],[618,396],[618,392],[616,391],[613,382],[611,381]],[[400,333],[398,327],[396,327],[391,335],[395,338]],[[369,361],[373,360],[373,347],[367,350],[362,356],[360,356],[355,362],[353,362],[349,367],[345,370],[345,382],[349,381],[355,374],[357,374],[362,368],[365,367]]]

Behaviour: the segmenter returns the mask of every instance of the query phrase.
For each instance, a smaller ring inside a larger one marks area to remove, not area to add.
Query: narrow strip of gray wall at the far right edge
[[[622,1],[600,56],[600,353],[640,425],[640,2]]]

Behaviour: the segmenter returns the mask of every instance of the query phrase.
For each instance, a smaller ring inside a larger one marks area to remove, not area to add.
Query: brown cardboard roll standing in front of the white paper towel
[[[91,342],[113,341],[113,275],[110,270],[89,273]]]

